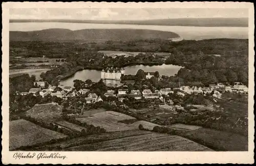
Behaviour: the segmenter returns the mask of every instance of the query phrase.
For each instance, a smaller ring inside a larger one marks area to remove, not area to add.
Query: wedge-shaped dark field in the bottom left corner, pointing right
[[[31,122],[25,120],[16,120],[10,122],[10,150],[22,146],[35,145],[39,143],[45,143],[52,139],[58,139],[66,137],[66,135],[41,128]]]

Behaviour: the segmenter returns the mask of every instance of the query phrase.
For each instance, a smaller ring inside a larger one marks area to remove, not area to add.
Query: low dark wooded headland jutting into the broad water
[[[46,29],[41,31],[10,31],[11,41],[26,40],[134,40],[134,39],[168,39],[177,38],[173,32],[136,29]]]

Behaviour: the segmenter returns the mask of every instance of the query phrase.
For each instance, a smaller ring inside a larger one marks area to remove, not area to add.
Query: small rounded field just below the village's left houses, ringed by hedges
[[[35,118],[45,123],[61,121],[62,108],[57,103],[35,105],[32,109],[25,112],[27,116]]]

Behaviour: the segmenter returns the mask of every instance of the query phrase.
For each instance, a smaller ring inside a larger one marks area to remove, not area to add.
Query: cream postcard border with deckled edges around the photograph
[[[165,164],[165,163],[253,163],[254,149],[254,8],[252,3],[234,2],[165,2],[129,3],[129,8],[248,8],[249,9],[249,148],[248,152],[58,152],[66,159],[15,159],[9,152],[9,8],[127,8],[126,3],[54,3],[23,2],[2,4],[2,162],[4,164]],[[28,152],[24,152],[28,153]],[[30,152],[36,153],[40,152]],[[56,153],[56,152],[46,152]]]

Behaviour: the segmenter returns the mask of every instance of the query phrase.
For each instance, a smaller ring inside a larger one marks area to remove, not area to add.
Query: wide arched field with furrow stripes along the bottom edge
[[[113,146],[114,145],[114,146]],[[130,130],[73,138],[31,151],[212,151],[186,138],[150,131]]]

